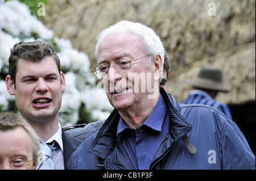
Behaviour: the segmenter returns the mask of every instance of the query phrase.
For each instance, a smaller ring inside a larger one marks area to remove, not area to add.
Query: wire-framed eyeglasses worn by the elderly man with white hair
[[[135,60],[138,60],[139,58],[143,58],[146,56],[150,56],[150,54],[146,54],[142,57],[134,58],[132,60],[127,60],[125,58],[121,58],[120,60],[115,61],[113,63],[113,68],[115,70],[117,70],[119,73],[124,73],[124,72],[130,70],[131,61],[135,61]],[[106,64],[106,63],[99,64],[96,68],[93,69],[92,72],[96,75],[97,78],[102,79],[102,78],[104,78],[104,76],[106,74],[108,74],[110,66],[111,66],[111,64]]]

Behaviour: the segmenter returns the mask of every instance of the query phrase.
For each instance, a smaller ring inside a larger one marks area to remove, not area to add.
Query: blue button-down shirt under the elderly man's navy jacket
[[[118,140],[123,142],[123,146],[125,146],[125,150],[136,169],[150,169],[158,146],[167,136],[169,114],[166,114],[166,110],[164,99],[162,95],[159,95],[154,110],[141,128],[130,128],[120,117],[117,127],[117,136],[120,136]]]

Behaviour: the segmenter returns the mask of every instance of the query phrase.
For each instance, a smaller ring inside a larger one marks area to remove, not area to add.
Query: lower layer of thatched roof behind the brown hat
[[[255,100],[255,42],[170,72],[167,90],[177,101],[182,102],[187,98],[188,92],[192,90],[187,81],[195,80],[202,65],[221,68],[224,71],[225,86],[230,91],[220,92],[217,100],[229,104]]]

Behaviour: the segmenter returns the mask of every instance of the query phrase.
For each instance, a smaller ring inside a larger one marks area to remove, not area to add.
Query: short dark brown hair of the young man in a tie
[[[14,86],[16,81],[17,62],[19,58],[32,62],[38,62],[48,56],[54,58],[57,69],[60,73],[60,59],[51,43],[41,40],[32,42],[20,41],[19,43],[16,43],[13,49],[11,49],[11,55],[9,57],[9,75],[14,81]]]

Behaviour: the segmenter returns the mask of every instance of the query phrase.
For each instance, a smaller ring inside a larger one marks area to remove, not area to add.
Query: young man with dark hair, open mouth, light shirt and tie
[[[37,169],[64,169],[82,141],[61,130],[59,109],[65,77],[52,44],[38,40],[16,43],[11,49],[6,87],[15,96],[20,115],[38,134],[40,148],[47,145],[52,149],[54,167],[42,163]]]

